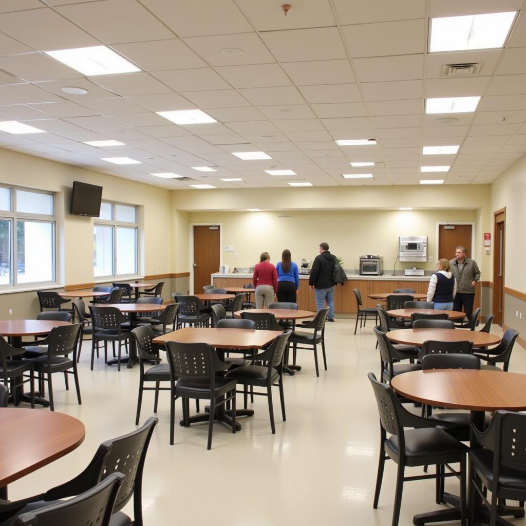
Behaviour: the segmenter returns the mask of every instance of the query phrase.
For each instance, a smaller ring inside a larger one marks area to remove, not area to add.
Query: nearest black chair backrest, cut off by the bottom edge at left
[[[14,524],[16,526],[56,526],[57,524],[108,526],[124,480],[125,476],[122,473],[112,473],[95,487],[73,499],[18,515]]]

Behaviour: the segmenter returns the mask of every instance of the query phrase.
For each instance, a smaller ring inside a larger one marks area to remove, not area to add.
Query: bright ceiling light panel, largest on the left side
[[[137,66],[106,46],[59,49],[44,53],[87,77],[140,71]]]

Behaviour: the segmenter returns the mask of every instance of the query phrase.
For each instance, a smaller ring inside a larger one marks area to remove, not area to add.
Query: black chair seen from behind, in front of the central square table
[[[227,401],[232,403],[232,433],[236,432],[236,381],[217,376],[216,373],[228,369],[219,360],[213,347],[206,343],[166,342],[166,354],[170,365],[170,444],[174,443],[175,400],[183,399],[183,419],[190,425],[190,398],[208,399],[210,414],[208,419],[208,445],[212,447],[212,430],[217,407]]]

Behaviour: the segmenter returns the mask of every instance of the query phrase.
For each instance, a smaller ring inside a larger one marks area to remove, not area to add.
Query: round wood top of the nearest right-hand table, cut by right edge
[[[397,375],[392,388],[411,400],[470,411],[526,410],[526,375],[516,372],[433,369]]]

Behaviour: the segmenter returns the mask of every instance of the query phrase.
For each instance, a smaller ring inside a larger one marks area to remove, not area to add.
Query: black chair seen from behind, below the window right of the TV
[[[115,342],[118,342],[118,358],[117,371],[120,371],[120,350],[122,342],[126,346],[131,333],[124,323],[128,322],[128,318],[120,312],[117,307],[97,307],[95,305],[89,306],[89,311],[92,313],[93,324],[93,338],[92,338],[92,363],[91,370],[93,371],[93,361],[95,359],[95,350],[98,358],[98,342],[104,342],[104,363],[108,361],[108,341],[112,342],[113,353],[115,356]]]

